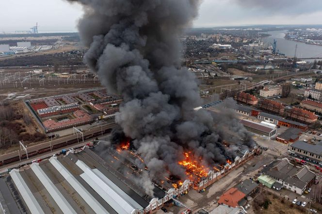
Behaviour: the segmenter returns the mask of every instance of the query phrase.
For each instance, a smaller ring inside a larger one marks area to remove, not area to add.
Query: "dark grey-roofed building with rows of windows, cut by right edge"
[[[290,155],[300,157],[306,161],[322,166],[322,145],[310,144],[301,140],[295,141],[288,150]]]

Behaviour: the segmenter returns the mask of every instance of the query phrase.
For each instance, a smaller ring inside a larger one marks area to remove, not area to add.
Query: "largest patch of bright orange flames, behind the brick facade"
[[[178,164],[186,169],[186,175],[194,182],[200,182],[202,177],[208,176],[209,168],[201,164],[202,160],[195,160],[191,152],[184,153],[185,159]]]

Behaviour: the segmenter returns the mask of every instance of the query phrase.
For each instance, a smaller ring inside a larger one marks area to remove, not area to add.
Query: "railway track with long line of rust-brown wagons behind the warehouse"
[[[107,134],[112,131],[112,128],[116,125],[115,122],[109,123],[103,126],[93,128],[88,131],[83,132],[84,140],[89,138],[94,138],[100,135]],[[35,146],[27,147],[28,157],[38,155],[41,153],[46,153],[57,148],[66,147],[68,145],[81,142],[81,135],[71,135],[59,139],[54,139],[45,143],[41,143]],[[16,162],[22,159],[27,158],[26,151],[18,150],[13,153],[8,153],[0,156],[0,166]]]

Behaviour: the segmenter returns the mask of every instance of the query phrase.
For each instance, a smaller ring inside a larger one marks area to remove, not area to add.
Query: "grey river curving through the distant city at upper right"
[[[271,36],[263,39],[264,45],[273,44],[274,39],[277,40],[276,49],[280,53],[288,57],[294,57],[295,46],[297,44],[296,57],[297,58],[322,58],[322,46],[308,45],[301,42],[295,42],[284,38],[287,31],[268,31]]]

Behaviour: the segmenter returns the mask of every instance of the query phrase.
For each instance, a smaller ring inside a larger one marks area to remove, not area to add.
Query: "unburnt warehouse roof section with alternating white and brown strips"
[[[88,148],[13,169],[0,191],[10,213],[126,214],[149,205],[141,187]]]

